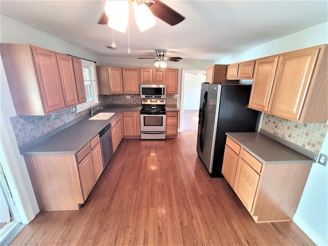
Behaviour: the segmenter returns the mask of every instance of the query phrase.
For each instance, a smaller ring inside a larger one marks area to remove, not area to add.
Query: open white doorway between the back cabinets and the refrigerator
[[[206,70],[182,70],[180,132],[198,130],[200,86],[205,79]]]

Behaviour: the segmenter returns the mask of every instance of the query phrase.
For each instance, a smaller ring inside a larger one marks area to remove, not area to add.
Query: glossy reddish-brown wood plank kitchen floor
[[[294,222],[256,224],[196,137],[123,139],[80,210],[39,213],[11,245],[314,245]]]

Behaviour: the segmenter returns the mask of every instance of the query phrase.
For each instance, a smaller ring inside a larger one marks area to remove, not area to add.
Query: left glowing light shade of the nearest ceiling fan
[[[126,32],[129,17],[128,1],[106,1],[105,13],[108,16],[108,26],[119,32]]]

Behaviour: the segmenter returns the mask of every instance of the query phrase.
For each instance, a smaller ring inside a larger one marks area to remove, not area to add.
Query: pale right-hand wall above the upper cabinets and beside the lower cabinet
[[[323,23],[252,49],[217,59],[214,63],[231,64],[327,43],[328,23]],[[325,136],[321,153],[328,155],[328,134]],[[313,164],[293,218],[294,222],[318,245],[328,245],[327,173],[327,166],[323,167],[319,163]]]

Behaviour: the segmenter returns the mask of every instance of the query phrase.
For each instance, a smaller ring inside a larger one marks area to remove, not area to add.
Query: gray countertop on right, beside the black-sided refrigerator
[[[228,132],[226,135],[262,163],[315,162],[314,159],[259,132]]]

